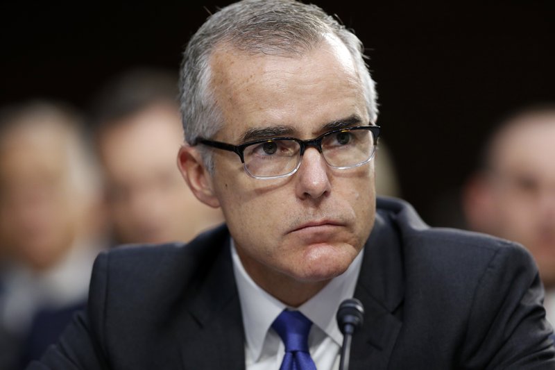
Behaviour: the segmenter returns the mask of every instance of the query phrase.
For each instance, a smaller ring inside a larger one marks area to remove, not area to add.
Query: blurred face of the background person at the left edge
[[[67,129],[21,122],[0,139],[0,235],[8,256],[44,269],[71,247],[85,223],[70,164]]]

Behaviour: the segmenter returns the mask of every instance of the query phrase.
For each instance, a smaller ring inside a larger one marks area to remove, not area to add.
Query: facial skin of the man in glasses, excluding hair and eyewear
[[[260,128],[307,140],[336,121],[357,117],[368,124],[352,58],[332,36],[300,57],[221,48],[212,56],[212,72],[225,121],[215,140],[239,144]],[[296,174],[275,180],[250,178],[227,151],[214,151],[213,176],[194,147],[183,146],[179,162],[198,199],[222,208],[251,278],[292,306],[342,274],[373,226],[373,161],[332,169],[310,148]]]

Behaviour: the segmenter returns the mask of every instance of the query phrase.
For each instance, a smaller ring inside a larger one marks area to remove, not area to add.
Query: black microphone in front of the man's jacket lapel
[[[336,319],[339,330],[343,333],[339,370],[348,370],[352,335],[355,333],[355,329],[360,328],[364,322],[364,307],[361,301],[357,298],[345,299],[339,305]]]

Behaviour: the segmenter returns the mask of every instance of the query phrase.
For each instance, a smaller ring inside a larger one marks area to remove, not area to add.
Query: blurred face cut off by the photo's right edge
[[[524,244],[545,285],[555,285],[555,116],[511,128],[497,145],[491,182],[494,232]]]

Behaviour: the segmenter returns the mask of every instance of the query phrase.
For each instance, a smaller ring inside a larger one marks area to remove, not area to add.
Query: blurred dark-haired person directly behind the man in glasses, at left
[[[133,69],[109,81],[93,103],[96,149],[103,167],[112,245],[188,242],[223,221],[183,186],[178,77]]]

